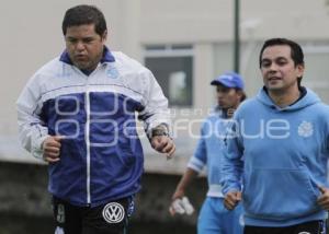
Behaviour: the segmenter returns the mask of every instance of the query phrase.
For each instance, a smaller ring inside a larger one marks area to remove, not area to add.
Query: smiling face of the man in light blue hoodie
[[[276,45],[266,47],[262,54],[261,72],[269,91],[298,89],[297,78],[304,73],[304,66],[295,66],[291,47]]]

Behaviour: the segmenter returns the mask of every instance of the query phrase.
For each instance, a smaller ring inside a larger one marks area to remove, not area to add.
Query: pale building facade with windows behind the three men
[[[261,87],[258,56],[269,37],[288,37],[304,47],[303,83],[329,102],[329,7],[326,0],[240,2],[240,71],[247,94]],[[32,162],[16,141],[15,100],[29,78],[64,49],[61,20],[76,4],[98,5],[107,20],[107,45],[146,65],[169,97],[178,159],[158,157],[150,172],[180,173],[192,153],[202,119],[214,105],[211,80],[232,69],[232,0],[5,1],[0,9],[3,55],[0,86],[0,159]],[[146,144],[148,155],[156,154]],[[163,162],[161,162],[163,163]]]

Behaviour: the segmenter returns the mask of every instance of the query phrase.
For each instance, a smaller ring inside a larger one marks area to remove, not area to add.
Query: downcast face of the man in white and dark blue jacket
[[[100,36],[94,31],[94,24],[70,26],[66,31],[65,42],[73,65],[82,70],[97,68],[103,55],[106,32]]]

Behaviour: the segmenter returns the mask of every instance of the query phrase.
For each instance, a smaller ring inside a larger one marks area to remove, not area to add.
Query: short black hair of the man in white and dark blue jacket
[[[94,24],[97,34],[103,36],[106,31],[106,21],[103,13],[94,5],[80,4],[66,11],[61,30],[66,35],[66,31],[70,26],[80,26],[83,24]]]

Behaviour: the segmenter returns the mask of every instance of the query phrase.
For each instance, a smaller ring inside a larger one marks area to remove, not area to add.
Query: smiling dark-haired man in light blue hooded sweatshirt
[[[329,107],[300,85],[300,46],[272,38],[260,52],[264,86],[235,113],[222,186],[242,201],[246,234],[325,233]]]

